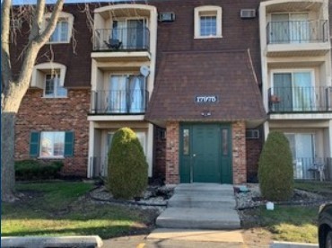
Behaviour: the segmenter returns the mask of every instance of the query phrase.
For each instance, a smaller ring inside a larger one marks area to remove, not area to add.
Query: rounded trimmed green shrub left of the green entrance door
[[[107,188],[116,199],[139,197],[147,186],[147,163],[135,132],[120,128],[109,149]]]

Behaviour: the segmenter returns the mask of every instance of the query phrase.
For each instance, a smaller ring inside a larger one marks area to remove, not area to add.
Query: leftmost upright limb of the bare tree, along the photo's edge
[[[12,81],[12,66],[9,53],[9,29],[10,29],[10,9],[11,0],[4,0],[1,4],[1,75],[3,79],[2,93],[7,91],[9,82]]]

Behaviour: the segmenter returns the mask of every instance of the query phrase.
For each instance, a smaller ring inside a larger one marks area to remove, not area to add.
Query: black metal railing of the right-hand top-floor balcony
[[[268,22],[267,44],[327,42],[328,21],[284,21]]]

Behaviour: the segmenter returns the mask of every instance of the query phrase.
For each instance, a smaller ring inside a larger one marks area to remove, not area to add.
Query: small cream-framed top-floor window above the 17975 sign
[[[195,8],[195,38],[222,38],[222,7]]]

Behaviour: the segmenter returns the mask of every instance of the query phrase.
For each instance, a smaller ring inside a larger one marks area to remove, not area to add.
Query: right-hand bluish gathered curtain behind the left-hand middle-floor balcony
[[[131,76],[129,79],[128,110],[131,113],[144,112],[145,107],[145,87],[144,76]]]

